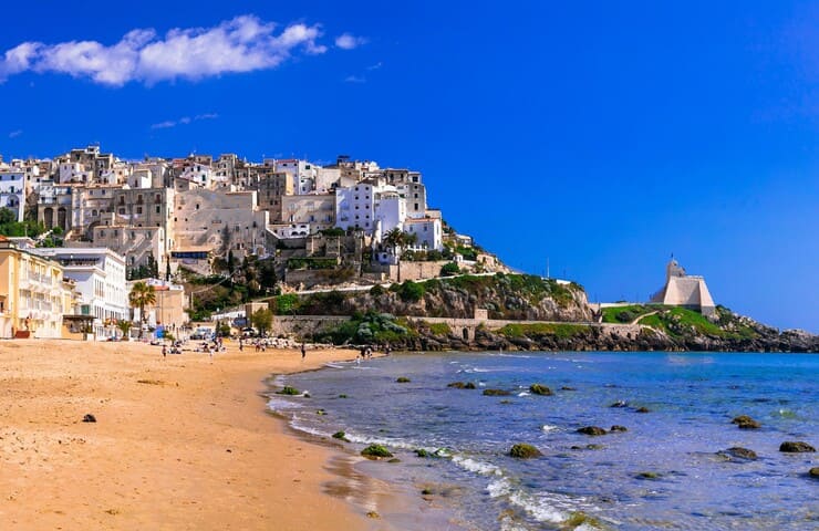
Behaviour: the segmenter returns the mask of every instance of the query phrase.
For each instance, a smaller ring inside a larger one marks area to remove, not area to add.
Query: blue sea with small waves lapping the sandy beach
[[[271,392],[269,407],[351,456],[385,446],[398,461],[361,470],[445,511],[446,529],[802,531],[819,530],[819,458],[779,446],[819,447],[818,384],[810,354],[400,353],[278,376],[271,389],[304,395]],[[761,427],[739,429],[739,415]],[[519,442],[542,456],[509,457]]]

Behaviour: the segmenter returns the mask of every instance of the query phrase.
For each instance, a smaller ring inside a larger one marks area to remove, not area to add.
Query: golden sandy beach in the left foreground
[[[2,528],[380,529],[326,493],[333,450],[294,437],[259,396],[271,373],[354,356],[0,342]]]

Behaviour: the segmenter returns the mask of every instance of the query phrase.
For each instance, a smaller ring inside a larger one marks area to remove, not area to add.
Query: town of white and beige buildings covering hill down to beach
[[[250,294],[506,271],[427,205],[419,171],[348,156],[124,160],[94,145],[0,158],[0,223],[2,337],[117,336],[135,281],[160,299],[152,325],[182,326],[197,291],[184,280],[232,281],[248,261],[262,271],[241,279]]]

